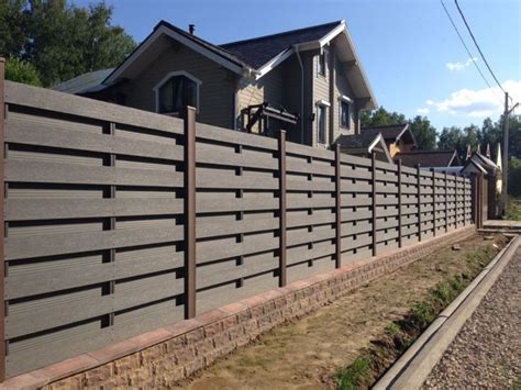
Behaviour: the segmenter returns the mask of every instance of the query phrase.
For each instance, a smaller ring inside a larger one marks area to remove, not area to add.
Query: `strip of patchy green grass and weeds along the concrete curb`
[[[384,334],[363,349],[352,364],[336,371],[337,388],[342,390],[369,388],[497,253],[497,247],[491,244],[468,253],[465,271],[437,283],[431,289],[428,298],[412,304],[402,319],[388,324]]]

